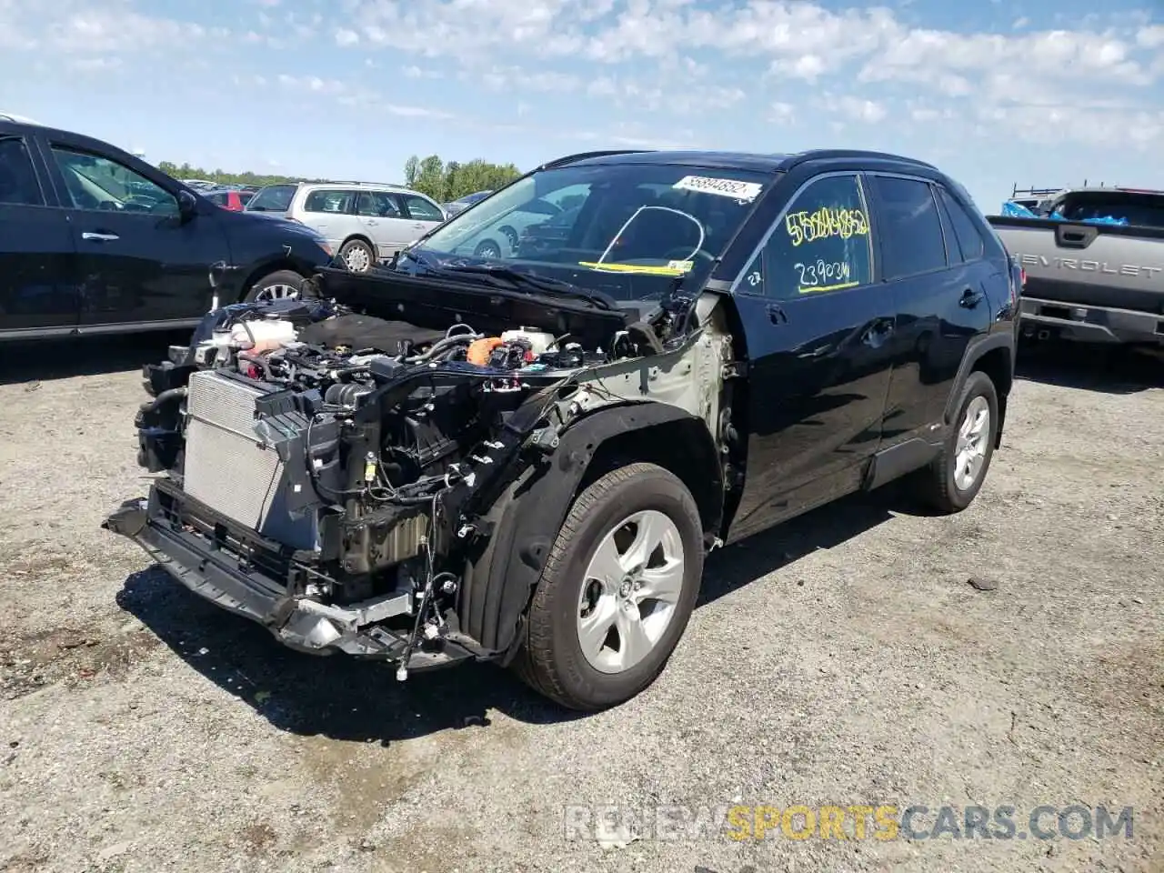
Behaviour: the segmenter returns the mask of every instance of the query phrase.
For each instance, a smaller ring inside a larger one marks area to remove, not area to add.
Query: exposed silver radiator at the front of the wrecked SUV
[[[315,513],[288,511],[285,464],[255,433],[255,400],[264,393],[214,370],[190,376],[183,489],[277,542],[315,548]]]

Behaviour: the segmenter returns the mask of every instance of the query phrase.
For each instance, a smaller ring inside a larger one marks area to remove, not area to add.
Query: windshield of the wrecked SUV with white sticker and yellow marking
[[[492,264],[616,299],[654,297],[676,278],[705,278],[773,180],[680,164],[542,170],[452,218],[414,251],[442,267]]]

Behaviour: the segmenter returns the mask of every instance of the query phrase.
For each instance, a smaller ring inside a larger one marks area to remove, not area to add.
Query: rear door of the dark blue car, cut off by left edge
[[[20,128],[0,125],[0,335],[77,324],[72,229],[47,182]]]

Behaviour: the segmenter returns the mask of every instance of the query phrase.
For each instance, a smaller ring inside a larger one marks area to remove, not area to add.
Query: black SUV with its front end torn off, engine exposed
[[[146,368],[163,475],[105,526],[294,648],[615,705],[710,549],[907,474],[973,501],[1018,277],[904,157],[570,156],[383,269],[210,313]]]

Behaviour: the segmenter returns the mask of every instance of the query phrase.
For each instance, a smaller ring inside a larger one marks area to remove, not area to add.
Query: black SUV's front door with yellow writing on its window
[[[733,541],[854,490],[878,448],[896,307],[872,235],[859,177],[819,176],[736,282],[748,445]]]

